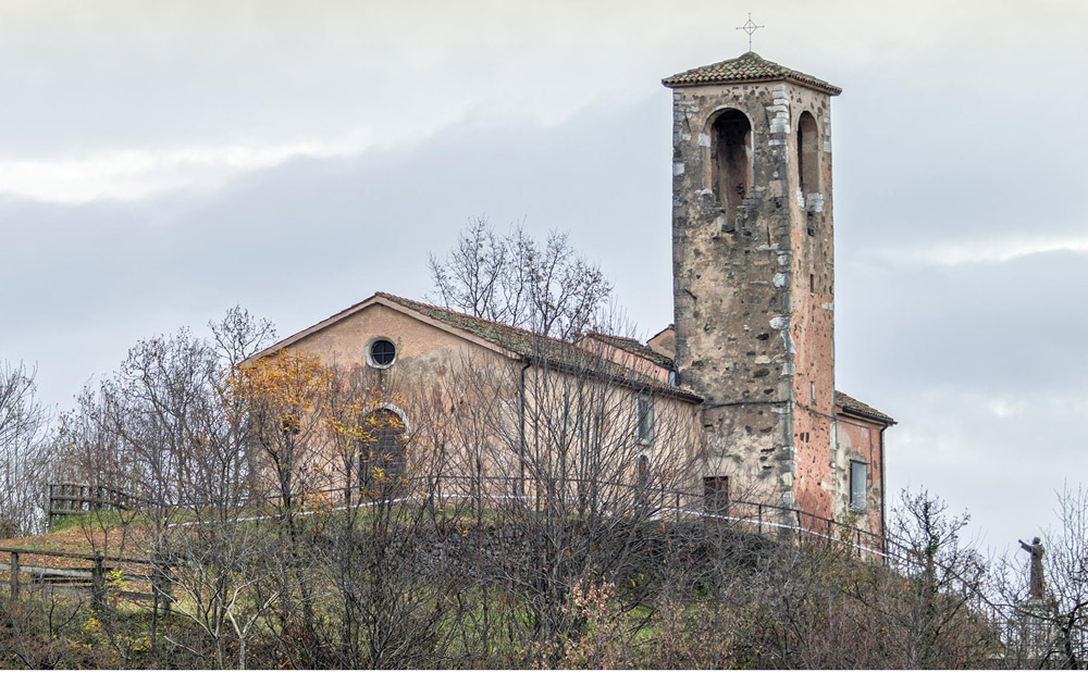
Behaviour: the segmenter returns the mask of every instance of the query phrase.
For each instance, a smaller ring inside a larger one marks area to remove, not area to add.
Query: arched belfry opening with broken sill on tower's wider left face
[[[710,189],[726,211],[727,230],[752,188],[752,124],[740,110],[725,110],[710,124]]]

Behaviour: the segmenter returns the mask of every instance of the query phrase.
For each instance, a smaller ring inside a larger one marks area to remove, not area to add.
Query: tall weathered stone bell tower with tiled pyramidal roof
[[[706,400],[704,484],[830,515],[830,101],[841,89],[751,51],[663,84],[676,361]]]

